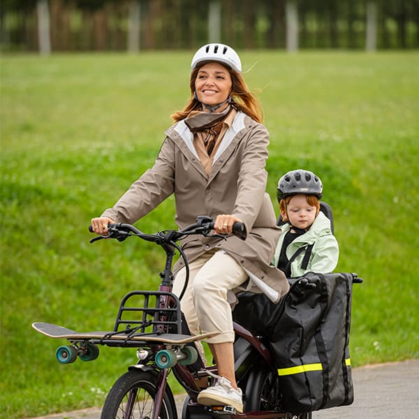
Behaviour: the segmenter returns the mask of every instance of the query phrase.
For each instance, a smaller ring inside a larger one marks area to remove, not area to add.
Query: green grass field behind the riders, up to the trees
[[[87,226],[152,165],[189,98],[191,52],[1,58],[1,413],[100,406],[135,363],[103,348],[59,365],[34,321],[112,328],[121,297],[154,289],[163,255],[131,240],[89,244]],[[419,53],[242,52],[271,145],[268,191],[295,168],[323,180],[338,270],[358,272],[351,360],[419,357]],[[254,64],[254,66],[253,66]],[[277,205],[275,204],[277,208]],[[169,199],[138,221],[172,228]]]

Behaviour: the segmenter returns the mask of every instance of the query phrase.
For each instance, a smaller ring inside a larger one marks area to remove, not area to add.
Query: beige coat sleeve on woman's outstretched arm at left
[[[174,178],[175,145],[166,138],[154,166],[131,184],[118,202],[102,215],[118,223],[135,223],[173,193]]]

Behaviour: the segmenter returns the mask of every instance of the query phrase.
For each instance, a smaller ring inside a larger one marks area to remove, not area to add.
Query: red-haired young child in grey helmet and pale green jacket
[[[292,170],[279,179],[277,197],[284,226],[273,263],[286,277],[332,272],[339,247],[330,220],[320,211],[321,180],[309,170]]]

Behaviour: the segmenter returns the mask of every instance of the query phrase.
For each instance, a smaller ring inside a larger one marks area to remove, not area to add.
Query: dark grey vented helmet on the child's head
[[[323,196],[323,184],[313,172],[304,169],[291,170],[278,181],[278,202],[290,195],[315,195],[318,199]]]

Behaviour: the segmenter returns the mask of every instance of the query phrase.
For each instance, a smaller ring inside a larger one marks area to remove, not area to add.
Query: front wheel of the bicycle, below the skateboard
[[[110,389],[103,405],[101,419],[151,418],[156,397],[157,376],[152,372],[128,371]],[[175,399],[166,387],[161,419],[177,419]]]

